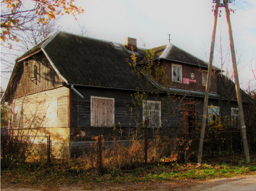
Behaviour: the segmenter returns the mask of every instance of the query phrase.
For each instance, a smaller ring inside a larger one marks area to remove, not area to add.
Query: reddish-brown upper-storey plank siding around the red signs
[[[199,68],[195,65],[171,62],[168,60],[162,60],[161,64],[163,65],[163,68],[165,68],[165,75],[168,75],[169,77],[167,84],[170,85],[172,83],[172,86],[171,86],[172,88],[202,91],[202,92],[205,91],[205,87],[202,86],[202,70],[207,70],[206,68]],[[182,65],[182,78],[191,79],[190,75],[191,73],[194,73],[195,75],[194,79],[196,79],[196,83],[183,84],[183,83],[172,82],[172,64]],[[210,91],[212,93],[216,92],[216,73],[212,76]]]

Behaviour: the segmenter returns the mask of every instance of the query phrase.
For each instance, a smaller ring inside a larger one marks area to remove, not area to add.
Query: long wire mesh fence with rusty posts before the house
[[[255,137],[249,131],[247,134],[249,146],[253,148]],[[196,162],[199,137],[198,132],[130,137],[95,136],[90,141],[63,145],[64,149],[60,152],[68,151],[65,160],[74,160],[84,171],[112,172],[113,169],[132,169],[145,164]],[[50,136],[1,137],[1,167],[24,163],[45,164],[49,167],[52,159],[53,165],[58,161],[63,162],[64,157],[56,157],[51,145]],[[78,146],[79,154],[72,155]],[[205,132],[203,158],[242,152],[242,149],[240,131]]]

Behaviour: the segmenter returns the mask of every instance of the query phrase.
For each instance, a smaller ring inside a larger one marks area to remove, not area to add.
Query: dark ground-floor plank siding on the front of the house
[[[71,91],[72,94],[72,128],[71,133],[75,135],[76,138],[82,138],[80,135],[81,132],[84,132],[85,137],[89,137],[91,140],[91,136],[97,136],[99,134],[103,134],[105,136],[115,135],[120,136],[120,126],[123,130],[122,136],[128,135],[129,127],[133,128],[136,126],[136,122],[130,120],[130,111],[127,108],[127,105],[132,105],[131,95],[134,94],[134,91],[128,90],[114,90],[114,89],[106,89],[106,88],[92,88],[92,87],[82,87],[75,86],[75,88],[84,96],[82,99],[79,97],[74,91]],[[113,130],[113,127],[91,127],[90,119],[90,97],[98,96],[98,97],[108,97],[115,99],[115,126],[116,129]],[[161,97],[165,95],[160,95],[160,99],[158,101],[162,101]],[[171,103],[171,107],[168,107],[170,111],[167,111],[166,105],[161,102],[161,121],[162,128],[160,128],[159,133],[182,133],[183,128],[183,101],[191,100],[196,102],[197,108],[197,125],[200,128],[202,114],[203,114],[203,98],[183,98],[181,99],[179,96],[174,98],[175,101]],[[148,100],[154,100],[154,97],[149,97]],[[209,104],[213,106],[219,106],[219,101],[217,99],[209,99]],[[235,106],[236,103],[232,103],[232,106]],[[229,115],[230,111],[228,109],[227,103],[223,103],[223,116]],[[133,108],[134,109],[134,108]],[[137,114],[134,111],[134,114]],[[139,121],[142,121],[142,109],[139,110]],[[120,122],[120,125],[118,124]],[[152,132],[152,128],[147,129]],[[145,133],[146,128],[142,128],[140,133]],[[148,132],[149,133],[149,132]],[[76,139],[77,140],[77,139]]]

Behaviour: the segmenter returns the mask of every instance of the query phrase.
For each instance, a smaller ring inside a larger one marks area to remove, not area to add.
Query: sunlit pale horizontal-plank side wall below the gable
[[[51,135],[53,140],[69,139],[69,88],[59,87],[13,100],[13,107],[23,105],[23,123],[20,128],[31,128],[31,134]],[[57,98],[57,127],[45,128],[45,100]],[[37,132],[37,133],[36,133]]]

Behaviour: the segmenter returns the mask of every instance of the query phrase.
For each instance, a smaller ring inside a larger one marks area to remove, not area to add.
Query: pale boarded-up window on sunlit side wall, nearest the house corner
[[[57,98],[45,100],[45,127],[58,126],[58,101]]]

